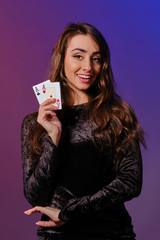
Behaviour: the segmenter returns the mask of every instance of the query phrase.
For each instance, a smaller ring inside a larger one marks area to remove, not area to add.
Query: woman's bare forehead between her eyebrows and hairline
[[[99,51],[100,48],[95,40],[88,34],[77,34],[68,41],[67,51],[72,51],[75,48],[81,48],[86,51],[95,52]]]

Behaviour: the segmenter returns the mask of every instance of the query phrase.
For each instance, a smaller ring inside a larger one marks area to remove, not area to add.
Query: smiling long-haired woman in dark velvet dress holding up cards
[[[43,213],[39,239],[135,239],[124,202],[142,185],[132,108],[115,93],[110,53],[101,33],[69,24],[52,54],[63,109],[46,100],[22,124],[24,194]]]

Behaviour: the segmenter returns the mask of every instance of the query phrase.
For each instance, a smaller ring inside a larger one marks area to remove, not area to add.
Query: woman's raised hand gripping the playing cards
[[[53,143],[58,146],[62,124],[56,116],[57,107],[53,106],[56,99],[47,99],[40,104],[37,122],[46,129],[48,135],[51,137]]]

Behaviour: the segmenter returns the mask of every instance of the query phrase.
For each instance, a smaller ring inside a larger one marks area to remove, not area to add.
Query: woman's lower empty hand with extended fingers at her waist
[[[61,221],[58,218],[58,215],[59,215],[59,212],[60,212],[59,209],[51,208],[51,207],[36,206],[34,208],[31,208],[31,209],[25,211],[24,213],[27,214],[27,215],[31,215],[32,213],[35,213],[35,212],[40,212],[42,214],[47,215],[50,218],[49,221],[38,221],[38,222],[36,222],[36,225],[38,225],[38,226],[41,226],[41,227],[60,227],[61,225],[64,224],[64,222]]]

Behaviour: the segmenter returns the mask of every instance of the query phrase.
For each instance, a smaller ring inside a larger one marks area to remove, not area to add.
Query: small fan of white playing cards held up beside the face
[[[46,99],[55,98],[56,102],[53,105],[58,107],[58,109],[62,109],[59,82],[50,82],[50,80],[47,80],[33,86],[33,90],[39,104],[44,102]]]

